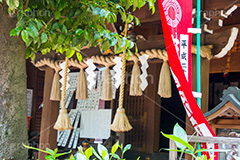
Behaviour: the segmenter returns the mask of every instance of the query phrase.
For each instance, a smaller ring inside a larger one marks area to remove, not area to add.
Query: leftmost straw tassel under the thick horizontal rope
[[[55,70],[55,74],[53,77],[52,89],[50,100],[52,101],[60,101],[61,100],[61,92],[60,92],[60,75],[58,71]]]

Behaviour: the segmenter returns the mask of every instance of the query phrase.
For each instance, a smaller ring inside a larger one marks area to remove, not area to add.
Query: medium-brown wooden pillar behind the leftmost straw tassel
[[[53,126],[57,120],[57,116],[59,113],[59,102],[50,100],[53,76],[54,70],[46,67],[39,142],[39,148],[44,150],[46,148],[55,149],[57,147],[57,131],[53,129]],[[45,154],[39,152],[39,160],[45,160],[44,156]]]

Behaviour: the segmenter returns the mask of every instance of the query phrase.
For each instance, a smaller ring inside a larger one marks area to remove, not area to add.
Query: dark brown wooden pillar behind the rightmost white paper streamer
[[[157,90],[160,68],[160,63],[149,65],[148,87],[144,92],[144,110],[147,113],[145,139],[147,153],[159,150],[161,98]]]

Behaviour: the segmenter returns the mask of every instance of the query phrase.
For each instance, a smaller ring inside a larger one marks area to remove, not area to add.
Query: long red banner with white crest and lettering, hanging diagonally
[[[216,136],[191,89],[191,35],[187,30],[192,27],[192,0],[158,0],[158,4],[169,65],[186,113],[200,136]],[[208,144],[207,148],[216,149],[217,145]],[[218,153],[214,155],[217,160]]]

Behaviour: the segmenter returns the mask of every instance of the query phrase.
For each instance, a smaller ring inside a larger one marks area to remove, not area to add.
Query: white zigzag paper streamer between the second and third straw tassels
[[[88,65],[87,69],[85,70],[86,73],[88,74],[87,76],[87,81],[89,82],[88,89],[91,90],[93,86],[96,84],[96,79],[95,79],[96,74],[94,73],[96,66],[93,63],[93,59],[87,60],[86,64]]]

